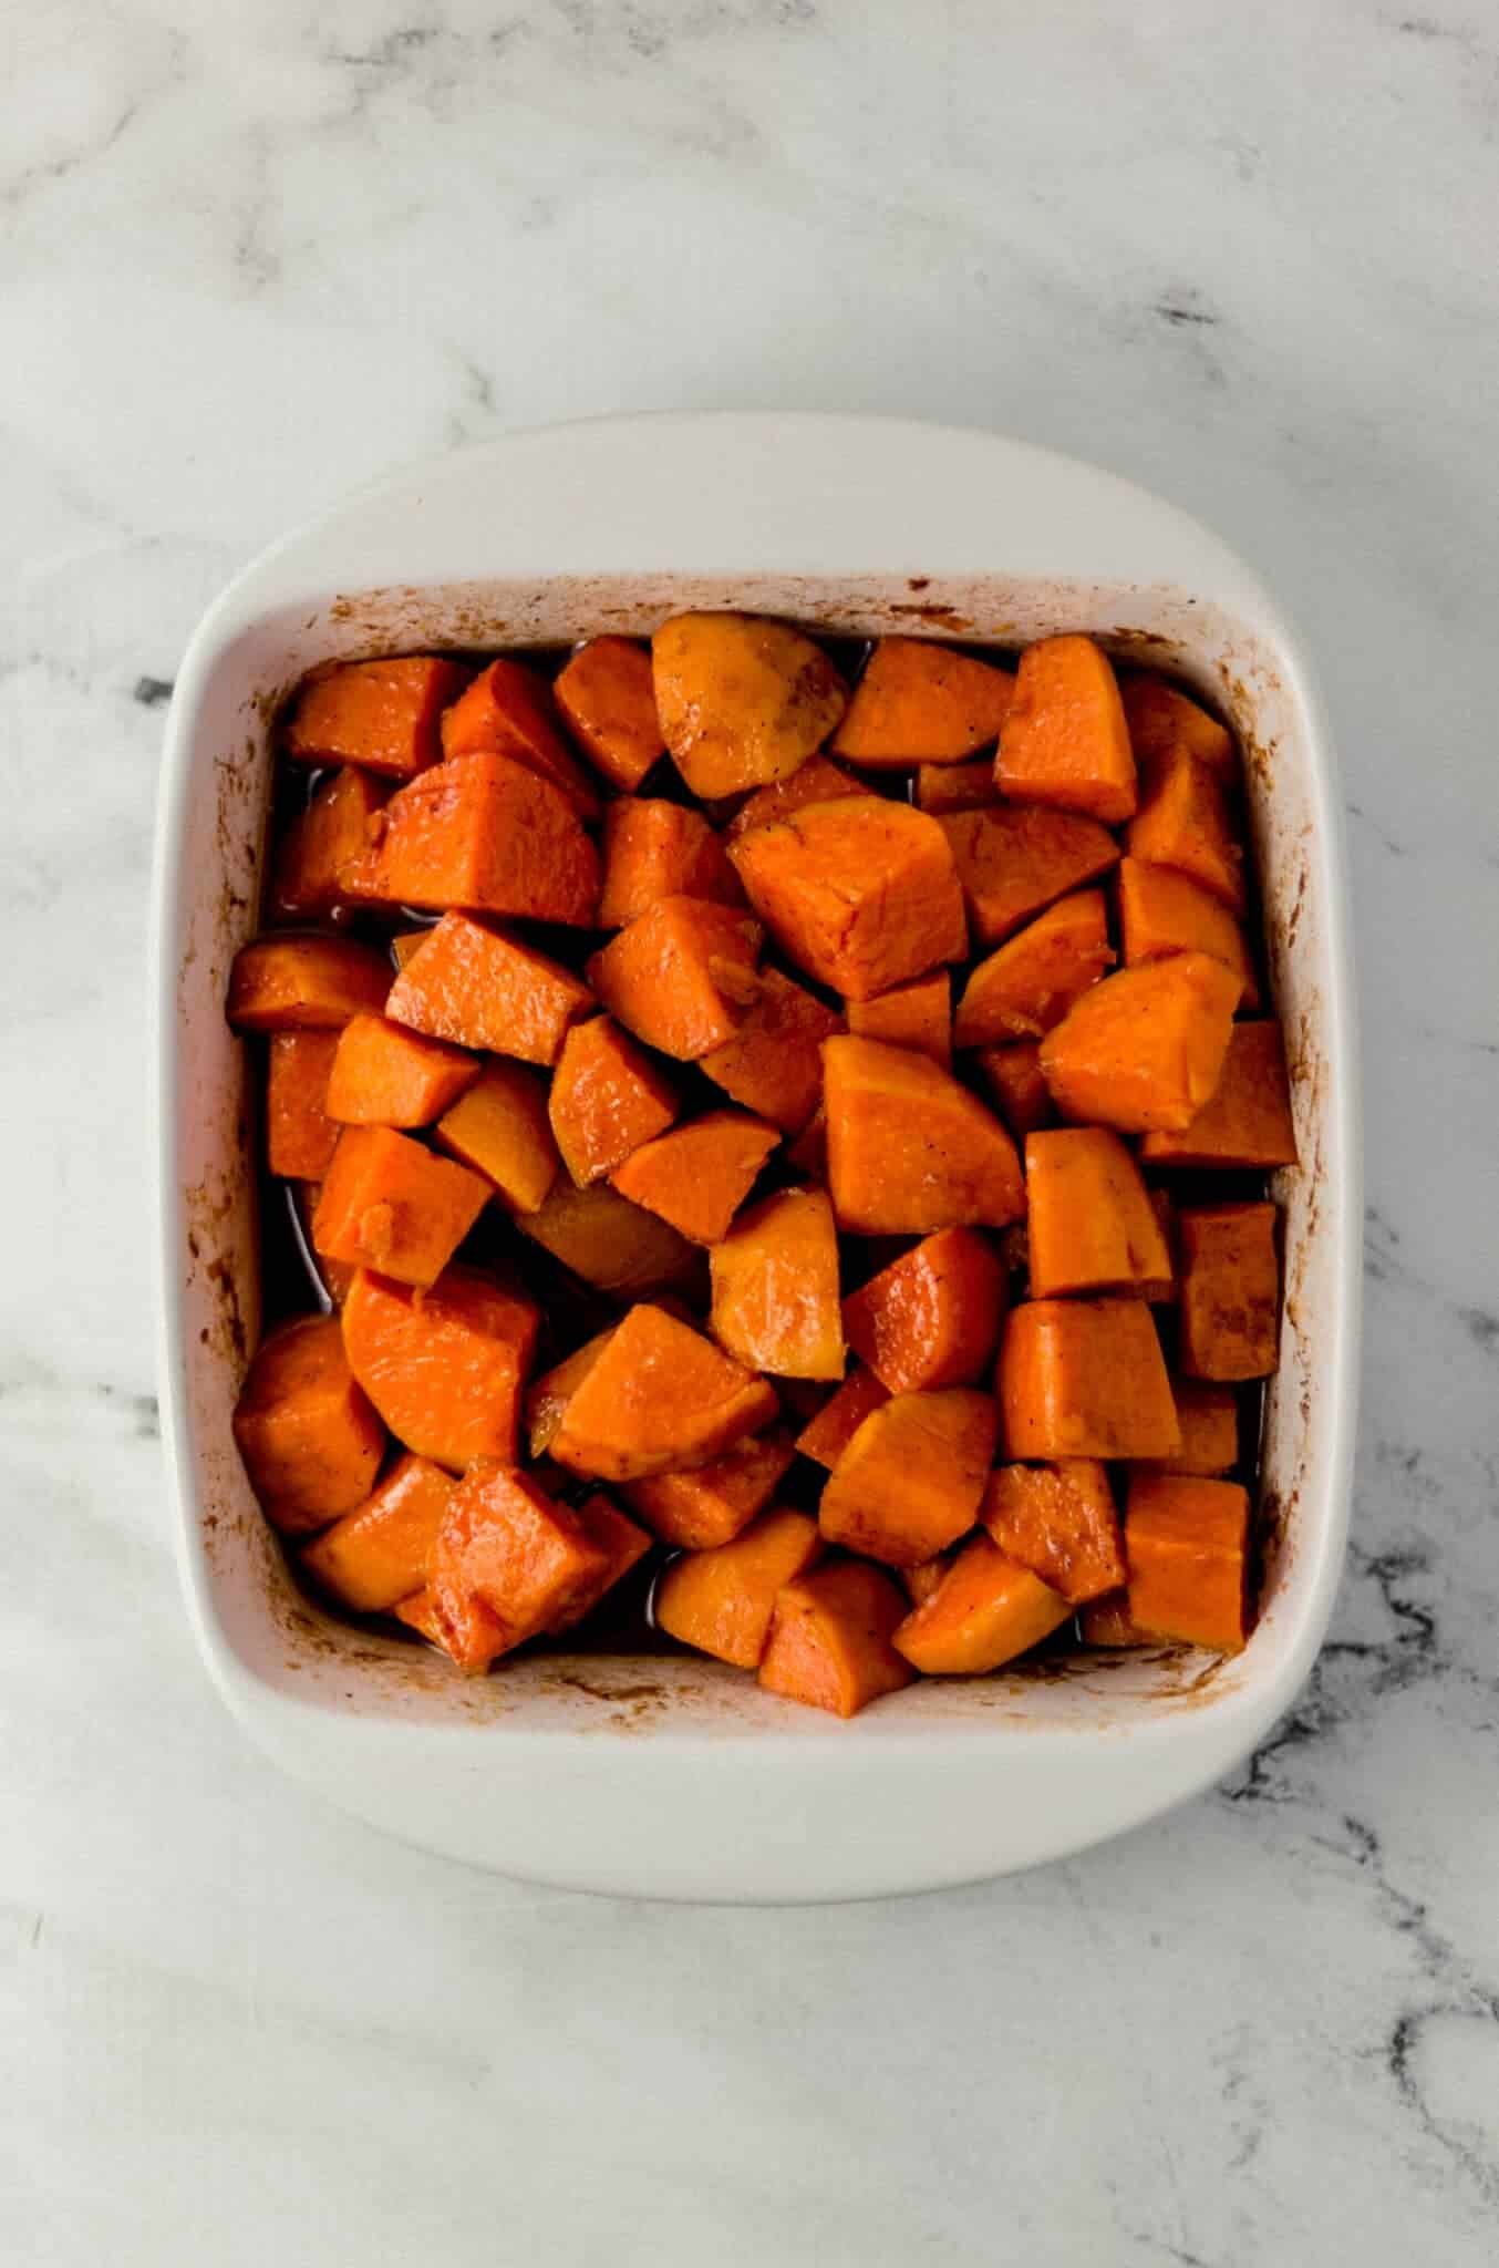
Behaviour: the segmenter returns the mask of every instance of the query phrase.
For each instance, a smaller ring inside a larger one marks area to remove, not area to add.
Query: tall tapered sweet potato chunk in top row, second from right
[[[993,776],[1016,803],[1055,803],[1104,826],[1136,801],[1113,667],[1091,637],[1043,637],[1020,655]]]

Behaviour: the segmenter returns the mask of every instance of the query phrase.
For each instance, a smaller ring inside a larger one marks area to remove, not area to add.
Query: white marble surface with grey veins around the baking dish
[[[5,52],[0,2257],[1492,2259],[1492,9],[41,0]],[[962,1896],[671,1912],[388,1846],[249,1753],[177,1601],[141,950],[181,644],[390,463],[676,404],[1154,483],[1302,617],[1345,751],[1333,1642],[1231,1787]]]

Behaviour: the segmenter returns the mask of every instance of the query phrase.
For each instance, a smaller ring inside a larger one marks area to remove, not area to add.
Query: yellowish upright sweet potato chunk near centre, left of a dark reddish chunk
[[[746,1370],[844,1377],[839,1241],[821,1188],[782,1188],[708,1254],[712,1336]]]

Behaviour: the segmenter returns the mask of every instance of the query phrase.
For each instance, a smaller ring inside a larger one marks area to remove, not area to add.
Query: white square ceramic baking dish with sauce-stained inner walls
[[[1020,644],[1093,631],[1206,687],[1250,748],[1302,1166],[1268,1397],[1274,1510],[1247,1651],[925,1683],[853,1724],[708,1660],[517,1660],[483,1681],[322,1617],[240,1472],[256,1334],[254,1109],[222,1014],[256,919],[268,721],[317,660],[646,633],[742,606]],[[156,844],[161,1404],[181,1576],[245,1730],[336,1803],[503,1873],[674,1898],[928,1889],[1116,1835],[1281,1715],[1343,1560],[1358,1343],[1356,1034],[1322,703],[1279,610],[1195,522],[986,433],[864,417],[635,417],[399,474],[211,608],[177,680]]]

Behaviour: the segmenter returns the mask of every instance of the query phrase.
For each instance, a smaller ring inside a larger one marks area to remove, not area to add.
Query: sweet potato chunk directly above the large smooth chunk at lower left
[[[324,1261],[433,1284],[488,1198],[488,1182],[408,1134],[345,1127],[322,1177],[313,1247]]]

